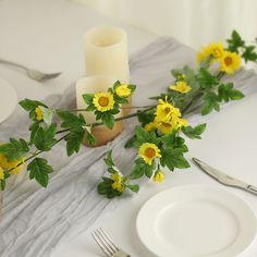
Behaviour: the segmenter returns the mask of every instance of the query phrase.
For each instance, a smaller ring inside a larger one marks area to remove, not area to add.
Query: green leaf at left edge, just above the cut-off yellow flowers
[[[23,158],[28,151],[28,144],[22,138],[10,138],[10,143],[0,145],[0,154],[7,156],[9,161],[19,160]]]

